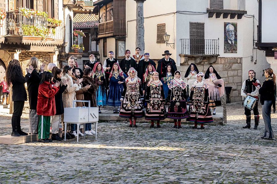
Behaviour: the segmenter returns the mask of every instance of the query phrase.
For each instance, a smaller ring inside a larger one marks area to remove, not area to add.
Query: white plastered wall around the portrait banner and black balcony
[[[257,79],[263,81],[262,69],[269,67],[266,62],[265,53],[263,51],[257,51],[257,63],[256,60],[256,48],[253,49],[253,17],[254,19],[254,40],[257,40],[257,25],[258,25],[258,2],[252,0],[246,0],[247,18],[243,16],[242,19],[230,19],[230,16],[223,19],[223,15],[220,18],[208,18],[207,12],[208,0],[179,0],[177,1],[177,32],[176,32],[176,50],[177,50],[177,64],[180,62],[179,54],[181,53],[181,40],[183,38],[189,38],[189,23],[190,22],[202,22],[205,23],[205,39],[218,39],[219,38],[219,57],[242,57],[243,58],[243,80],[248,78],[248,71],[250,69],[256,71]],[[181,12],[182,11],[182,12]],[[185,12],[186,11],[186,12]],[[191,13],[199,12],[199,13]],[[201,12],[203,14],[201,15]],[[191,15],[194,14],[194,15]],[[199,15],[196,15],[199,14]],[[224,22],[237,23],[237,53],[224,53]],[[254,52],[254,62],[251,62],[251,56]],[[206,70],[206,69],[205,69]]]

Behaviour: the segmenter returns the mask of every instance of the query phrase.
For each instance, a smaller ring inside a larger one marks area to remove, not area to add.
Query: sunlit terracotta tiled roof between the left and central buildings
[[[92,28],[98,26],[98,15],[88,13],[77,13],[73,18],[73,28]]]

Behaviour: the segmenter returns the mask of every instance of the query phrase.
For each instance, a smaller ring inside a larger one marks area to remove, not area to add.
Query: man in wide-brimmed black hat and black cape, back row
[[[177,71],[176,63],[175,61],[170,58],[171,53],[169,51],[164,51],[163,59],[160,59],[158,61],[158,67],[157,72],[159,73],[159,79],[166,77],[167,74],[167,65],[170,64],[173,71]]]

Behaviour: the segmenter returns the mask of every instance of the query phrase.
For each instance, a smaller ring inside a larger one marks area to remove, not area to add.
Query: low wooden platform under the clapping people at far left
[[[51,135],[50,135],[51,136]],[[38,141],[38,134],[14,137],[11,135],[0,136],[0,144],[21,144]]]

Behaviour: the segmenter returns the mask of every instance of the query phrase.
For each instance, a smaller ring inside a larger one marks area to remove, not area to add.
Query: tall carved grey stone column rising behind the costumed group
[[[144,17],[143,17],[143,3],[146,0],[134,0],[137,3],[136,14],[136,47],[141,48],[141,54],[144,54]]]

